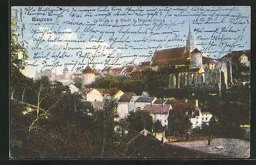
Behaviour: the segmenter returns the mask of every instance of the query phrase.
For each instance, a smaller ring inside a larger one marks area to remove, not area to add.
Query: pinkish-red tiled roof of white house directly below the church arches
[[[145,105],[142,111],[149,112],[152,114],[168,114],[169,109],[170,109],[169,105],[152,104],[152,105]]]

